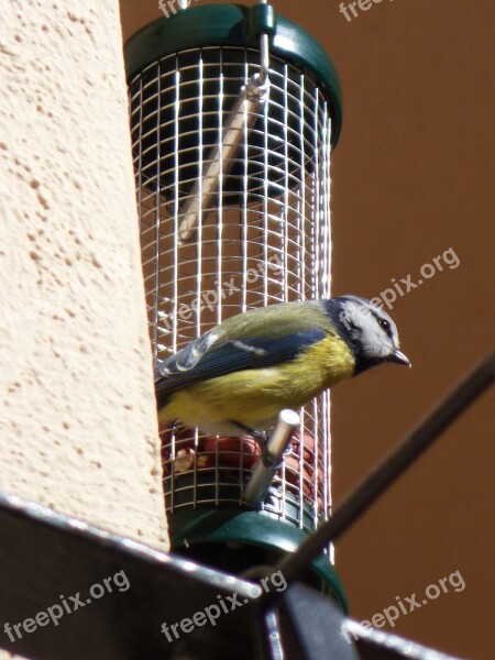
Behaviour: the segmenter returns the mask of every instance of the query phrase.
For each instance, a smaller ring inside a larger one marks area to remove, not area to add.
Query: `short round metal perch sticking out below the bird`
[[[261,461],[253,470],[244,490],[242,499],[251,506],[257,506],[266,497],[273,479],[282,465],[282,457],[287,449],[294,431],[300,425],[300,417],[294,410],[280,410],[278,421],[266,446]]]

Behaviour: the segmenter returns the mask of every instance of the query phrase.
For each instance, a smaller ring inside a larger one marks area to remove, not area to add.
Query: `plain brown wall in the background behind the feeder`
[[[124,37],[161,15],[155,0],[121,7]],[[275,7],[323,44],[342,80],[333,293],[376,296],[392,278],[416,282],[448,249],[460,260],[394,305],[414,369],[389,366],[336,389],[338,502],[493,345],[495,3],[383,0],[351,22],[337,0]],[[429,584],[460,571],[462,592],[450,586],[395,631],[475,659],[495,648],[492,409],[485,395],[337,546],[358,619],[396,596],[421,601]]]

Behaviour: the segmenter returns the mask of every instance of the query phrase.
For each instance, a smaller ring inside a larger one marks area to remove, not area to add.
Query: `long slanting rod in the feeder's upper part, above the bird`
[[[178,239],[184,244],[194,238],[199,213],[206,215],[217,195],[220,176],[227,176],[234,164],[244,131],[256,121],[256,110],[266,101],[268,80],[266,76],[257,80],[251,78],[230,111],[222,132],[220,144],[216,144],[207,157],[204,173],[179,209],[182,217]]]

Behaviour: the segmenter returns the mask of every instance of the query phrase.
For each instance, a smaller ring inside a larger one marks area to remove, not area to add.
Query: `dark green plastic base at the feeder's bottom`
[[[233,573],[272,565],[307,538],[302,530],[263,512],[188,508],[169,515],[168,520],[174,552]],[[348,614],[342,583],[324,554],[312,562],[305,582],[329,593]]]

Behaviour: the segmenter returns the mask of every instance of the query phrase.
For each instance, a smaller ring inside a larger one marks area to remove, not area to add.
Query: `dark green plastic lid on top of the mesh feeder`
[[[328,95],[331,144],[336,146],[342,128],[342,96],[336,68],[322,46],[306,30],[276,13],[270,4],[202,4],[150,23],[125,43],[128,78],[161,57],[187,48],[258,47],[258,35],[263,32],[270,35],[271,54],[302,65],[305,73]]]

